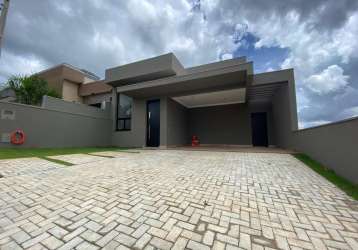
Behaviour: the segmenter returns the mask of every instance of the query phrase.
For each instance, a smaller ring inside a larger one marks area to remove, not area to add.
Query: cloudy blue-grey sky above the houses
[[[0,0],[1,2],[1,0]],[[300,127],[358,115],[357,0],[11,0],[0,83],[62,62],[108,67],[174,52],[294,68]]]

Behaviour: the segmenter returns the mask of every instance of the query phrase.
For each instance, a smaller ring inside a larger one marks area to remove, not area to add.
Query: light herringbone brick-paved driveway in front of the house
[[[287,154],[142,151],[32,168],[0,179],[1,249],[358,249],[357,204]]]

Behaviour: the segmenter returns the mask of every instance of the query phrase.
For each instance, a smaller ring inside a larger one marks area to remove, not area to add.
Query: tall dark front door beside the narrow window
[[[147,146],[158,147],[160,138],[160,100],[147,102]]]

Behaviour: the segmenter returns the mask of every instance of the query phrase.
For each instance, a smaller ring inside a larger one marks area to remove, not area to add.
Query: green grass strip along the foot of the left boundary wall
[[[90,147],[90,148],[0,148],[0,159],[40,157],[65,154],[88,154],[101,151],[121,151],[128,148]]]

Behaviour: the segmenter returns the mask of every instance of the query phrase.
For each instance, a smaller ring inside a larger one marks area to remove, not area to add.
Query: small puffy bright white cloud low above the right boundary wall
[[[319,74],[314,74],[305,80],[305,84],[312,91],[323,95],[336,92],[346,87],[349,76],[343,74],[343,69],[338,65],[331,65]]]

